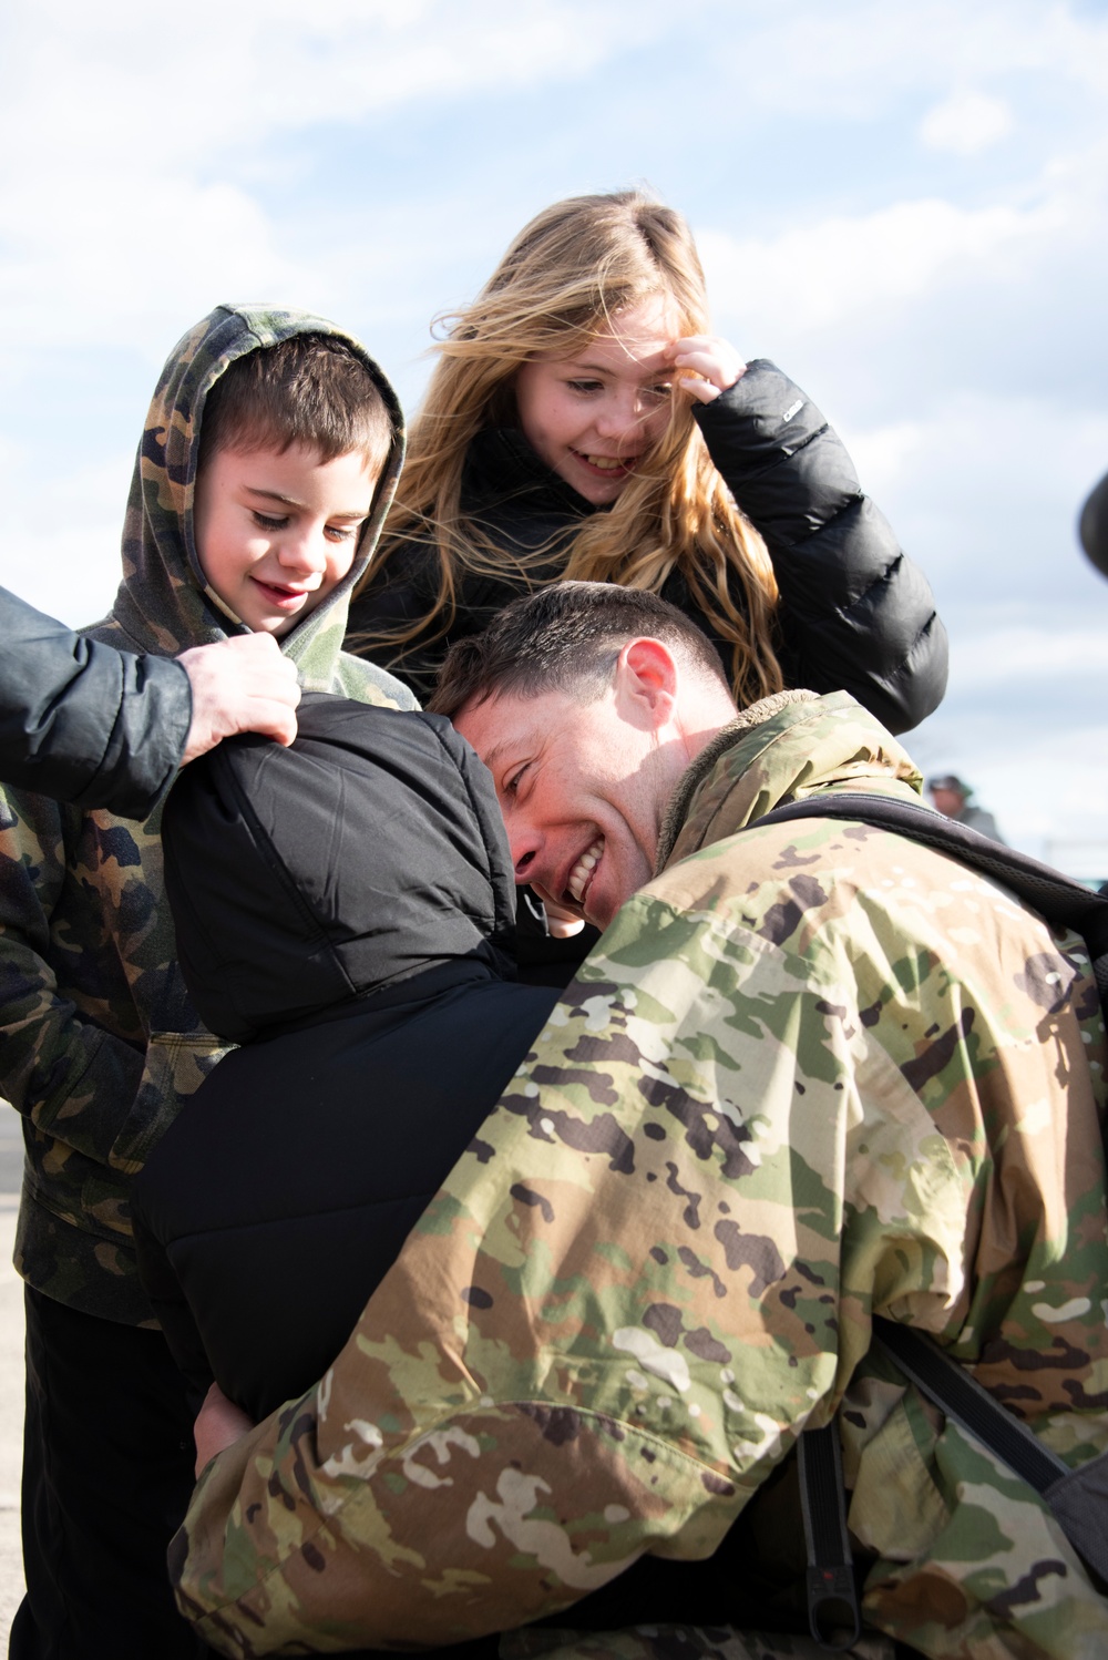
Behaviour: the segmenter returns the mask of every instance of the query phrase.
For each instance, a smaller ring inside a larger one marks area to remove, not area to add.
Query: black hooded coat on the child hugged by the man
[[[491,780],[450,722],[307,696],[285,750],[234,739],[163,820],[189,993],[242,1044],[134,1189],[177,1363],[254,1418],[315,1383],[556,993],[511,981]]]

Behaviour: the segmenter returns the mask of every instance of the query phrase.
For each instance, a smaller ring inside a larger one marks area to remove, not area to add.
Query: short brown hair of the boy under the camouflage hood
[[[227,365],[204,403],[197,466],[221,450],[284,455],[304,443],[323,461],[360,452],[380,471],[393,437],[385,398],[357,352],[335,335],[294,334]]]

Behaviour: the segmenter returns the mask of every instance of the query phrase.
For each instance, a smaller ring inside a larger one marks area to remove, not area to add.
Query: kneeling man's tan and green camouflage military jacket
[[[640,1552],[713,1552],[838,1414],[874,1632],[858,1653],[1108,1652],[1108,1607],[1037,1496],[871,1351],[872,1313],[922,1326],[1065,1461],[1108,1448],[1088,958],[887,832],[743,830],[851,788],[914,798],[919,774],[846,694],[768,699],[690,769],[665,868],[332,1370],[204,1472],[171,1567],[217,1648],[549,1618]],[[816,1652],[559,1623],[501,1653]]]

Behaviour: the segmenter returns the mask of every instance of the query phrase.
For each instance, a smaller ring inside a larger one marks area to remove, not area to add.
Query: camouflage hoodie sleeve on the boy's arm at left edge
[[[0,1091],[38,1129],[106,1164],[139,1087],[144,1046],[58,994],[50,913],[75,818],[41,795],[0,792]]]

